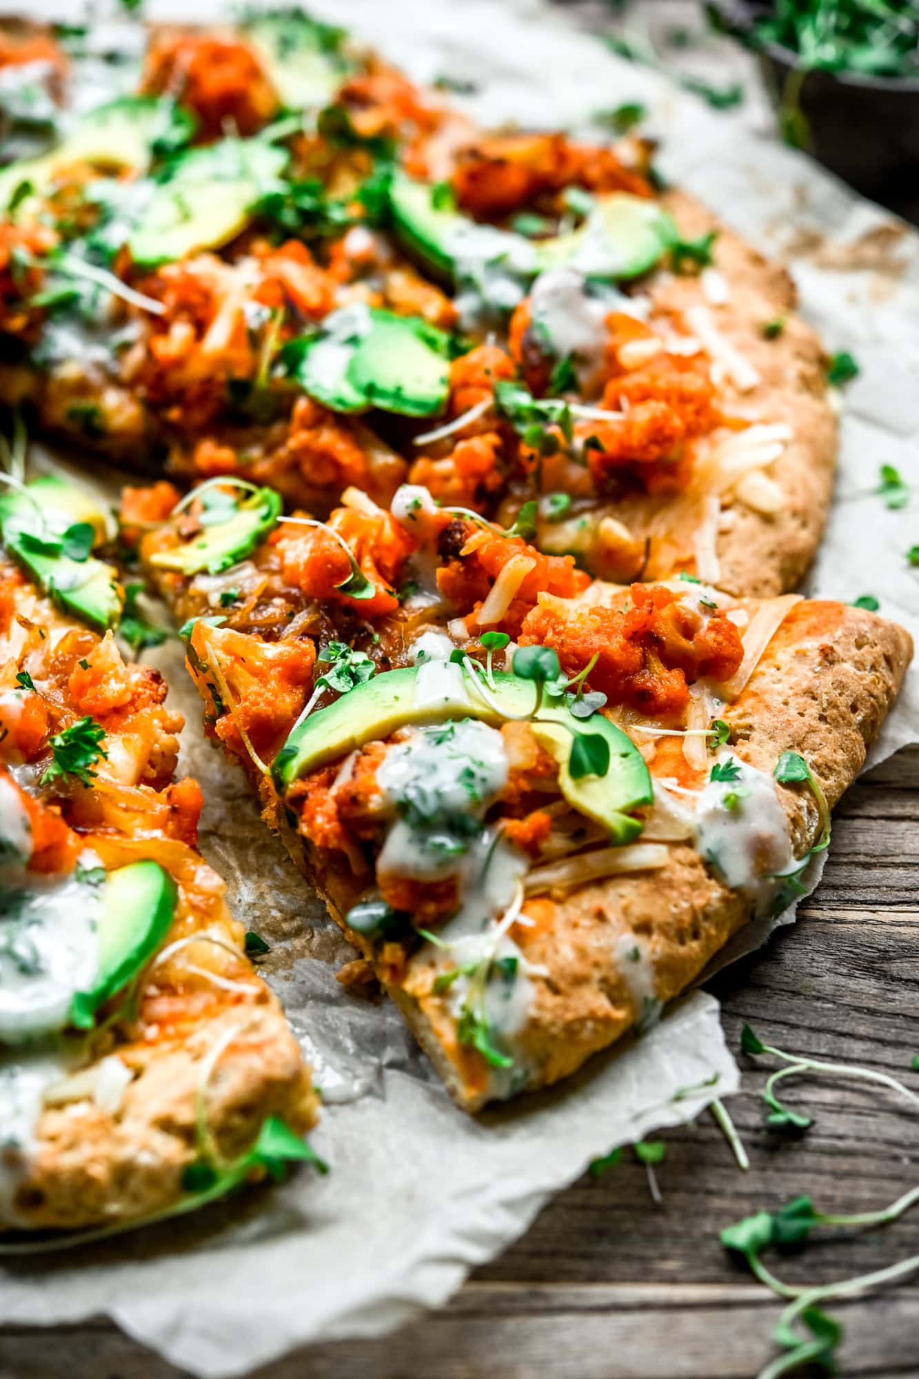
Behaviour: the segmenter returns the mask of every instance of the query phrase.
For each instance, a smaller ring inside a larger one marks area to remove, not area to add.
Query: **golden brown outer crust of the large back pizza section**
[[[712,254],[729,299],[713,305],[700,277],[668,273],[651,284],[655,308],[672,313],[689,334],[687,309],[701,306],[711,313],[720,335],[760,376],[747,392],[729,390],[729,410],[735,405],[763,425],[787,423],[793,432],[782,455],[766,470],[781,494],[781,510],[766,514],[735,492],[727,494],[716,542],[720,575],[715,583],[742,597],[771,597],[798,587],[829,512],[838,427],[827,390],[825,353],[817,334],[793,314],[796,294],[785,269],[763,258],[687,193],[669,192],[664,204],[686,239],[718,230]],[[767,339],[763,325],[778,319],[784,321],[781,332]],[[655,520],[665,520],[668,510],[676,513],[679,507],[680,498],[672,494],[633,496],[617,505],[615,516],[640,536],[654,530]],[[665,578],[673,567],[686,564],[680,557],[687,554],[691,550],[664,552],[660,565],[649,568],[646,576]]]

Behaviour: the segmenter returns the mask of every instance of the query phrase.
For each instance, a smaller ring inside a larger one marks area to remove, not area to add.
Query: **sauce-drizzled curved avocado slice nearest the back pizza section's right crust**
[[[473,263],[501,265],[522,281],[562,266],[606,280],[639,277],[678,239],[668,211],[626,192],[597,197],[577,230],[537,241],[479,225],[450,207],[435,207],[433,189],[404,175],[391,183],[389,208],[404,248],[431,272],[453,281],[461,280]]]

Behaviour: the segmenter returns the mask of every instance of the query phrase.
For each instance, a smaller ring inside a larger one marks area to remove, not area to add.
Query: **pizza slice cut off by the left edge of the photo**
[[[0,1231],[123,1229],[315,1157],[182,718],[109,626],[105,523],[55,479],[0,496]]]

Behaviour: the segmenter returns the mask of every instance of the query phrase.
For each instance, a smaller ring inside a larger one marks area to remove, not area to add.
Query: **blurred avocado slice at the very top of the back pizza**
[[[344,30],[302,10],[275,10],[243,25],[262,68],[288,110],[328,105],[353,63],[341,48]]]

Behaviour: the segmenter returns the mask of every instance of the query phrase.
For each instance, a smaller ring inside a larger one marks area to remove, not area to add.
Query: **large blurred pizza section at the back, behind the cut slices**
[[[51,110],[0,172],[0,397],[44,433],[316,516],[403,481],[524,510],[613,582],[800,582],[836,450],[821,346],[640,134],[480,131],[295,11],[155,28],[102,103],[83,43],[3,52]]]

